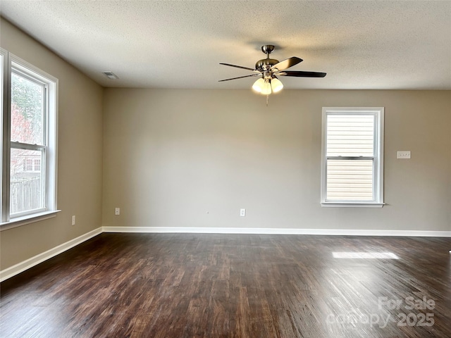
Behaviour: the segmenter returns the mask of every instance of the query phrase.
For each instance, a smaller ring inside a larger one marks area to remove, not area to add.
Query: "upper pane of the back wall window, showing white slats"
[[[327,156],[373,156],[373,115],[328,115]]]

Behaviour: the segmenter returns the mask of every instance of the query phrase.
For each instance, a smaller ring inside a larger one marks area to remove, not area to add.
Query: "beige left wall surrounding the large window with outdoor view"
[[[101,226],[103,88],[1,18],[0,46],[59,80],[58,213],[0,232],[0,269]],[[71,225],[76,215],[77,224]]]

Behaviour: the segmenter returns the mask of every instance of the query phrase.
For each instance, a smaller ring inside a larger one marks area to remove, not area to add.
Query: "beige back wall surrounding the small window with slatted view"
[[[323,106],[385,107],[383,208],[321,208]],[[450,130],[450,91],[105,89],[103,225],[449,231]]]

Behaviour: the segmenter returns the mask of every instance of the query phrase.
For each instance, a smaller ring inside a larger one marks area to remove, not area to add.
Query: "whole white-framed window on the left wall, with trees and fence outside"
[[[58,80],[1,50],[1,225],[56,211]]]

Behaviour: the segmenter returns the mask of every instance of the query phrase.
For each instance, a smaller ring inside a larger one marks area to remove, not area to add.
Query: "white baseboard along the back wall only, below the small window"
[[[103,232],[153,232],[193,234],[322,234],[341,236],[451,237],[451,231],[278,229],[257,227],[103,227]]]

